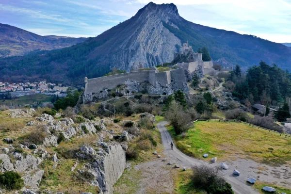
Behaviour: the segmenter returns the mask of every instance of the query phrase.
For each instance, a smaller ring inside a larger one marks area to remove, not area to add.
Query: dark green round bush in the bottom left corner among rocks
[[[24,186],[23,179],[13,171],[6,171],[0,175],[0,187],[7,190],[19,190]]]

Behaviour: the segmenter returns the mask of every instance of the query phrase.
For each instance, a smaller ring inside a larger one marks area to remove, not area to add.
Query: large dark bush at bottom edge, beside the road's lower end
[[[192,183],[195,188],[203,189],[208,194],[234,194],[231,185],[225,181],[218,167],[195,166]]]

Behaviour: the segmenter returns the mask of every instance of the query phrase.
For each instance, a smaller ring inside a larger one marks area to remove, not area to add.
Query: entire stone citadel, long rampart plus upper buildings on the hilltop
[[[184,43],[175,58],[183,59],[187,63],[177,63],[171,70],[159,72],[156,67],[149,70],[138,70],[117,75],[104,76],[100,78],[85,78],[85,91],[83,103],[106,98],[108,93],[115,89],[123,95],[132,95],[146,91],[148,94],[170,95],[181,90],[189,94],[189,81],[194,73],[199,77],[213,71],[212,61],[204,62],[202,53],[195,53],[192,46]],[[121,87],[123,86],[123,87]]]

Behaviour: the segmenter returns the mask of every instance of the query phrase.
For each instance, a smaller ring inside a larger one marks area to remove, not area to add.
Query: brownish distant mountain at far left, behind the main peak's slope
[[[32,50],[62,49],[87,38],[40,36],[32,32],[0,23],[0,57],[24,55]]]

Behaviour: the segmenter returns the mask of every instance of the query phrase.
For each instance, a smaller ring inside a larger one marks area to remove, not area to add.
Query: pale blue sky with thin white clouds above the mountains
[[[153,1],[204,26],[291,43],[291,0],[0,0],[0,23],[39,35],[94,37]]]

